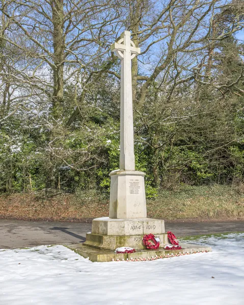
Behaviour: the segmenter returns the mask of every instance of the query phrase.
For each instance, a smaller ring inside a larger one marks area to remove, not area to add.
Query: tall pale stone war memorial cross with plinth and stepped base
[[[108,261],[119,247],[144,249],[145,234],[156,234],[161,245],[168,242],[164,220],[147,218],[145,173],[135,170],[134,164],[131,59],[140,54],[140,48],[130,40],[130,32],[124,31],[111,49],[121,59],[120,168],[110,173],[109,217],[92,221],[92,232],[87,233],[83,244],[87,246],[83,256],[97,261]],[[89,248],[99,250],[94,252]],[[113,250],[113,254],[101,250]]]

